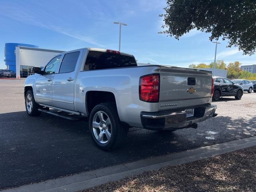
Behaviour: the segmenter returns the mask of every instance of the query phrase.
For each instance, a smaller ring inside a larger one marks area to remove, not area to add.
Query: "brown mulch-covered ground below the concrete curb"
[[[84,192],[253,192],[256,191],[256,147],[189,164],[144,172]]]

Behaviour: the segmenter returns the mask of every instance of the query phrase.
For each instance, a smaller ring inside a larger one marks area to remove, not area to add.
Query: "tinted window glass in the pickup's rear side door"
[[[65,54],[60,65],[59,73],[69,73],[74,71],[79,54],[80,51]]]

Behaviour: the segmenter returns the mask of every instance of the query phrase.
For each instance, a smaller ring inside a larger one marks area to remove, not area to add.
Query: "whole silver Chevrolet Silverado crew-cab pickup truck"
[[[209,71],[137,66],[133,55],[83,48],[58,54],[33,72],[24,85],[28,115],[86,117],[102,150],[120,146],[130,127],[197,128],[197,122],[217,115]]]

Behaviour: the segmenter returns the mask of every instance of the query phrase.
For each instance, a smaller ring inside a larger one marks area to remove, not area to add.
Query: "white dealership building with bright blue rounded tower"
[[[62,52],[30,44],[6,43],[4,62],[8,70],[16,72],[16,78],[26,78],[33,74],[32,67],[44,67],[52,57]]]

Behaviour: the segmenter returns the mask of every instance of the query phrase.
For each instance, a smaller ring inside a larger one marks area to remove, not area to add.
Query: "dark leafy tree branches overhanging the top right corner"
[[[192,29],[211,33],[210,40],[228,39],[244,54],[256,49],[255,0],[166,0],[164,31],[179,39]]]

